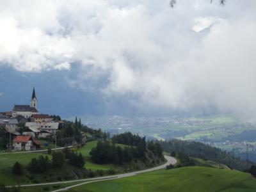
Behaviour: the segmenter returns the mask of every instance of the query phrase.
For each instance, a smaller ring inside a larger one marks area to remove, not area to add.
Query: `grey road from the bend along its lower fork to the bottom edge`
[[[52,192],[66,191],[67,189],[70,189],[70,188],[76,188],[77,186],[82,186],[84,184],[89,184],[89,183],[92,183],[92,182],[99,182],[99,181],[102,181],[102,180],[113,180],[113,179],[121,179],[121,178],[124,178],[124,177],[131,177],[131,176],[134,176],[134,175],[138,175],[140,173],[147,173],[147,172],[152,172],[152,171],[156,171],[156,170],[161,170],[163,168],[166,168],[166,166],[168,164],[176,164],[177,163],[177,160],[173,157],[164,156],[164,158],[167,160],[167,162],[160,165],[160,166],[156,166],[154,168],[150,168],[150,169],[147,169],[147,170],[141,170],[141,171],[138,171],[138,172],[124,173],[124,174],[120,174],[120,175],[97,177],[97,178],[93,178],[93,179],[86,180],[86,181],[84,180],[85,182],[75,184],[73,186],[68,186],[66,188],[58,189],[58,190],[52,191]]]

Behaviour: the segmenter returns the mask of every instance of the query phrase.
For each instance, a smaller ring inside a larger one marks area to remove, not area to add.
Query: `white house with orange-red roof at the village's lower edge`
[[[33,147],[33,141],[31,136],[21,135],[21,136],[17,136],[13,140],[14,150],[31,150],[32,147]]]

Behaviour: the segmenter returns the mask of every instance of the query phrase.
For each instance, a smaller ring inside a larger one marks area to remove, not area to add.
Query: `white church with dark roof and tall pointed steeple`
[[[24,116],[25,118],[29,118],[32,115],[38,114],[36,107],[37,107],[37,99],[36,99],[35,88],[33,88],[30,106],[29,105],[14,105],[13,110],[12,110],[12,117],[21,115],[21,116]]]

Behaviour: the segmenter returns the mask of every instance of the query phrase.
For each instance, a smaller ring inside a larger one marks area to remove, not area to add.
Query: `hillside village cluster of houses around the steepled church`
[[[60,118],[38,112],[35,88],[30,105],[15,104],[12,111],[0,112],[0,138],[8,140],[6,148],[10,151],[41,148],[42,143],[38,140],[47,141],[56,136],[62,125]],[[47,147],[49,143],[43,145]]]

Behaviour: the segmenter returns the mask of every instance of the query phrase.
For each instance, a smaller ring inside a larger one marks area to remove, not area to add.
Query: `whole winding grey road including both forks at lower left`
[[[177,160],[173,157],[164,156],[164,158],[167,160],[166,163],[164,163],[160,166],[156,166],[154,168],[149,168],[147,170],[140,170],[140,171],[137,171],[137,172],[123,173],[123,174],[119,174],[119,175],[110,175],[110,176],[104,176],[104,177],[94,177],[94,178],[91,178],[91,179],[77,179],[77,180],[68,180],[68,181],[59,181],[59,182],[47,182],[47,183],[40,183],[40,184],[25,184],[25,185],[20,185],[20,187],[47,186],[47,185],[54,185],[54,184],[67,184],[67,183],[71,183],[71,182],[81,182],[79,184],[68,186],[66,188],[58,189],[58,190],[52,191],[52,192],[65,191],[67,189],[75,188],[77,186],[81,186],[81,185],[92,183],[92,182],[98,182],[98,181],[102,181],[102,180],[120,179],[120,178],[124,178],[124,177],[131,177],[131,176],[134,176],[134,175],[138,175],[140,173],[153,172],[153,171],[156,171],[156,170],[164,169],[169,164],[176,164],[177,163]]]

